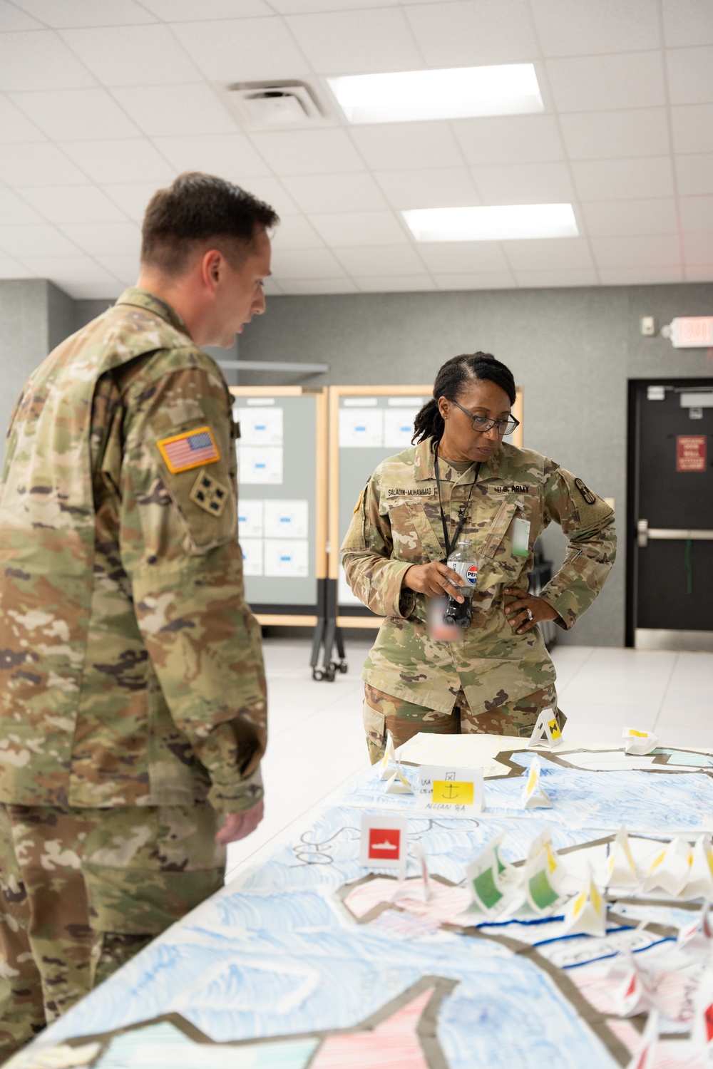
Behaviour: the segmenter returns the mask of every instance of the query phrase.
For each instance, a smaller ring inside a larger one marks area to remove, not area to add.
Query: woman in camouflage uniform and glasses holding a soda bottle
[[[418,731],[529,735],[541,710],[557,710],[537,625],[567,630],[594,601],[615,559],[614,513],[554,461],[503,443],[517,427],[514,401],[512,373],[495,357],[448,360],[416,417],[417,445],[379,464],[357,502],[344,571],[357,598],[387,617],[362,675],[372,763],[387,728],[397,745]],[[553,520],[569,547],[536,598],[532,547]],[[472,617],[462,640],[444,641],[427,600],[463,602],[445,563],[463,537],[478,564]]]

